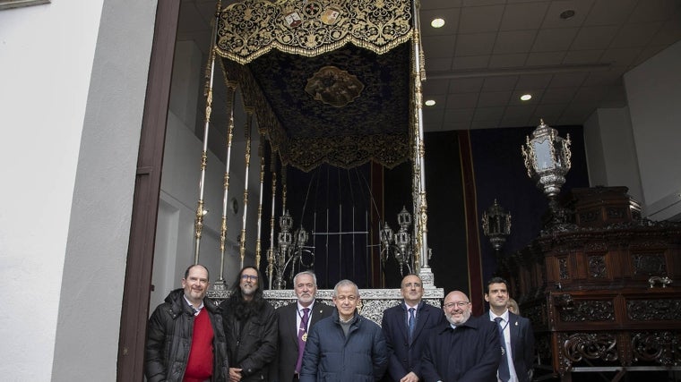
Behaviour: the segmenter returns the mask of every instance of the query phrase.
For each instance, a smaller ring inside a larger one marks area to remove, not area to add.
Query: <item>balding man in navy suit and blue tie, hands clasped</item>
[[[417,382],[421,378],[420,361],[427,336],[434,327],[444,325],[444,314],[421,301],[423,284],[416,275],[404,276],[401,294],[404,301],[384,310],[381,321],[390,352],[384,380]]]

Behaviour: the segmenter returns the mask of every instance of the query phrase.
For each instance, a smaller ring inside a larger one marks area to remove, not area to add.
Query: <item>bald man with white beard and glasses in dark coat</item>
[[[496,324],[487,317],[470,317],[465,293],[444,298],[447,323],[436,328],[426,346],[421,370],[425,381],[496,382],[501,348]]]

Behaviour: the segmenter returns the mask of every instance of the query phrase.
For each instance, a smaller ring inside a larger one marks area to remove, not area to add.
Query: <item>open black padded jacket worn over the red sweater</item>
[[[144,375],[148,382],[181,382],[194,333],[194,310],[185,301],[182,288],[168,294],[147,327],[144,347]],[[211,318],[213,329],[213,374],[211,381],[228,378],[227,344],[219,308],[209,298],[203,299],[203,309]]]

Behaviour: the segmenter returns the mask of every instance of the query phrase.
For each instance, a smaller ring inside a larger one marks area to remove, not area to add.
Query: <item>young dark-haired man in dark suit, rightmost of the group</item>
[[[528,318],[506,308],[508,283],[501,277],[487,282],[485,301],[489,302],[489,319],[496,321],[502,357],[497,378],[502,382],[530,382],[534,361],[534,334]]]

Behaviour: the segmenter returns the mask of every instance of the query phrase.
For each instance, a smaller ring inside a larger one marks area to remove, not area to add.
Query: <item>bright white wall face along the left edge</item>
[[[0,278],[11,285],[0,297],[4,380],[44,381],[52,372],[101,11],[102,0],[0,11]]]

